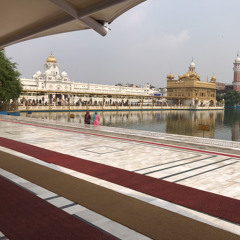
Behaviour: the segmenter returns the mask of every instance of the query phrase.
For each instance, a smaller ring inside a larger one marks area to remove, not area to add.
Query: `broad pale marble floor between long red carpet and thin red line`
[[[1,122],[2,137],[240,200],[240,159]],[[240,151],[239,151],[240,152]]]

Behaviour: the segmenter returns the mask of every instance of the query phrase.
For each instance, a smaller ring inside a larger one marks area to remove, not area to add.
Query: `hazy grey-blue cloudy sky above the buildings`
[[[233,81],[240,50],[239,0],[147,0],[117,18],[105,37],[93,30],[58,34],[6,48],[22,77],[31,78],[52,52],[72,81],[147,82],[166,86],[193,58],[201,81]]]

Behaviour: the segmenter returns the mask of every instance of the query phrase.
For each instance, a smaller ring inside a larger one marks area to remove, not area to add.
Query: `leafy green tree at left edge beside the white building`
[[[22,92],[16,63],[12,63],[0,50],[0,110],[10,110],[10,103],[16,100]]]

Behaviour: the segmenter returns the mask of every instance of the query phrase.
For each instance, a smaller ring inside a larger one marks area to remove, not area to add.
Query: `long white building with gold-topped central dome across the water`
[[[150,88],[149,83],[147,83],[144,87],[127,87],[70,81],[70,78],[65,71],[60,73],[59,64],[52,54],[47,58],[46,63],[44,64],[44,73],[37,71],[33,75],[32,79],[22,78],[21,83],[24,90],[41,92],[48,91],[51,93],[57,92],[58,94],[63,92],[63,95],[66,94],[66,92],[71,94],[86,92],[143,96],[158,93],[158,90]]]

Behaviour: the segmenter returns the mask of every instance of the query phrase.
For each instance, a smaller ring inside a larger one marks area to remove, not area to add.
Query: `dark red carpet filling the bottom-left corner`
[[[65,213],[3,177],[0,177],[0,196],[1,231],[9,239],[117,239]]]

